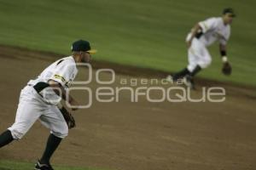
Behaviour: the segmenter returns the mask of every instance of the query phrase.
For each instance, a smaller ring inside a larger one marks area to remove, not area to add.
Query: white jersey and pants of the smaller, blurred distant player
[[[213,17],[199,22],[202,29],[201,37],[194,37],[188,51],[189,65],[188,70],[194,71],[196,65],[206,68],[212,62],[207,47],[218,40],[221,44],[226,44],[230,38],[230,25],[224,25],[221,17]],[[191,33],[186,41],[191,37]]]

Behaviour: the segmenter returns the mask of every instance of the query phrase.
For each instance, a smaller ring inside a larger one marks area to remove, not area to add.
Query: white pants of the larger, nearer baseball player
[[[20,92],[15,123],[8,129],[14,139],[21,139],[38,119],[56,137],[67,136],[67,123],[57,106],[45,103],[32,86],[26,86]]]

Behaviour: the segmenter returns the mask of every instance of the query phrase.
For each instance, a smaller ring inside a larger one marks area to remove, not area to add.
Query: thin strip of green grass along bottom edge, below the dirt
[[[0,161],[0,170],[29,170],[33,169],[33,163],[17,162],[17,161]],[[55,170],[103,170],[93,167],[64,167],[54,166]],[[106,170],[106,169],[105,169]]]

